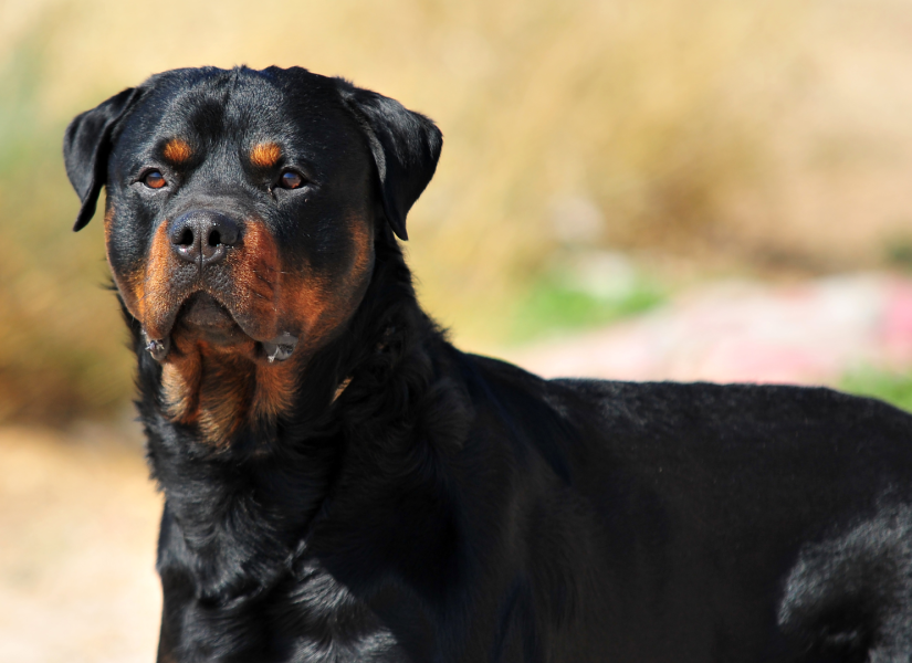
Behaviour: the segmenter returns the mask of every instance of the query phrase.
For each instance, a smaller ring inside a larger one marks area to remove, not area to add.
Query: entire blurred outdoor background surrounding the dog
[[[159,497],[61,141],[203,64],[302,65],[437,120],[407,250],[465,349],[912,408],[908,1],[0,0],[0,660],[153,660]]]

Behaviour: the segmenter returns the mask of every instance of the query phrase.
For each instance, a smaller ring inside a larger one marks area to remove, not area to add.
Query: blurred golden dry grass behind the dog
[[[301,64],[437,119],[409,249],[424,303],[470,344],[502,338],[517,295],[580,245],[819,271],[912,242],[899,0],[155,11],[0,6],[0,418],[101,412],[129,391],[99,224],[67,233],[59,145],[73,114],[175,66]]]

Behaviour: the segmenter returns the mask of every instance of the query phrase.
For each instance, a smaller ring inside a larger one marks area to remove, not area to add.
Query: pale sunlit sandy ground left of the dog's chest
[[[155,659],[160,498],[126,436],[0,429],[0,661]]]

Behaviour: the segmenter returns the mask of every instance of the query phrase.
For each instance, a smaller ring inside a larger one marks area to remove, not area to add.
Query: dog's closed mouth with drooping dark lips
[[[154,359],[164,361],[171,349],[171,336],[177,334],[205,340],[224,349],[232,346],[249,348],[254,344],[256,357],[270,364],[291,357],[297,345],[297,337],[290,333],[268,340],[255,338],[243,328],[224,304],[205,292],[191,294],[180,305],[168,336],[156,339],[147,335],[146,349]]]

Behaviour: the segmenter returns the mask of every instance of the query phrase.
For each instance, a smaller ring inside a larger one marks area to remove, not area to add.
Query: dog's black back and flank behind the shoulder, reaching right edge
[[[543,603],[577,600],[590,660],[912,655],[912,417],[828,389],[482,365],[504,430],[570,494],[530,505],[520,566]]]

